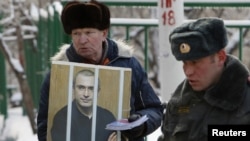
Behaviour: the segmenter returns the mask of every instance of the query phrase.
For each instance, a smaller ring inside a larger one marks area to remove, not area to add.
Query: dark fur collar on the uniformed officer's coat
[[[245,97],[249,72],[237,58],[228,55],[220,81],[205,94],[212,105],[225,110],[234,110]]]

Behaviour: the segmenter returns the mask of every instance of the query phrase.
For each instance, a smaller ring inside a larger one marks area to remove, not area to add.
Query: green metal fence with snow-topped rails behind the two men
[[[132,7],[157,7],[157,0],[126,0],[126,1],[114,1],[114,0],[100,0],[106,3],[109,6],[132,6]],[[217,0],[218,1],[218,0]],[[210,0],[209,2],[197,0],[184,0],[184,7],[250,7],[250,1],[218,1]],[[31,88],[34,105],[38,107],[38,101],[40,97],[40,86],[42,84],[43,78],[46,72],[50,68],[50,57],[54,55],[55,52],[58,51],[58,47],[63,43],[70,43],[70,38],[63,32],[63,28],[60,23],[59,13],[54,9],[54,14],[51,15],[49,12],[48,17],[40,16],[39,21],[37,23],[38,27],[38,36],[37,36],[37,48],[32,48],[30,41],[25,42],[25,54],[26,54],[26,64],[27,64],[27,78],[29,81],[29,85]],[[47,11],[49,11],[47,9]],[[140,21],[140,22],[136,22]],[[144,29],[144,45],[145,45],[145,60],[144,66],[145,69],[148,69],[148,31],[150,28],[158,27],[157,19],[111,19],[111,30],[110,34],[112,34],[112,27],[123,27],[125,28],[126,39],[129,39],[130,29],[132,27],[142,27]],[[240,31],[240,49],[242,49],[243,43],[243,33],[242,30],[245,28],[250,28],[250,22],[232,22],[226,21],[226,26],[228,28],[237,28]],[[0,56],[1,57],[1,56]],[[242,51],[239,52],[239,58],[242,58]],[[0,58],[0,67],[4,65],[4,59]],[[1,69],[0,71],[3,71]],[[5,78],[5,72],[0,72],[1,78]],[[6,88],[1,86],[6,86],[6,80],[1,79],[0,83],[0,95],[1,93],[6,93]],[[2,103],[2,102],[1,102]],[[2,107],[2,105],[0,105]],[[0,108],[0,112],[5,112],[6,108]]]

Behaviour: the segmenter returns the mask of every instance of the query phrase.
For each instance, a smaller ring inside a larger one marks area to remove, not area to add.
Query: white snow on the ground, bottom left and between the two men
[[[10,108],[9,117],[3,122],[0,115],[0,141],[38,141],[37,135],[32,133],[29,119],[23,116],[22,108]],[[157,141],[160,128],[147,137],[147,141]]]

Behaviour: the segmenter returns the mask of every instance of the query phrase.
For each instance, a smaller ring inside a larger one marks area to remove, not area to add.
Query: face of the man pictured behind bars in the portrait
[[[75,81],[74,94],[76,102],[81,107],[91,107],[94,97],[94,76],[79,74]]]

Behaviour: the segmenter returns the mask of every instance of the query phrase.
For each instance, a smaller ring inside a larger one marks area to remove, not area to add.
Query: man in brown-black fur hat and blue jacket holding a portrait
[[[141,126],[123,131],[129,141],[143,141],[144,137],[161,125],[163,107],[149,84],[147,72],[132,56],[131,47],[121,41],[107,38],[110,26],[109,8],[97,1],[68,2],[62,11],[64,31],[72,43],[63,45],[52,60],[96,65],[126,67],[132,69],[131,111],[129,121],[147,115]],[[52,82],[51,82],[52,83]],[[46,141],[48,122],[50,73],[45,78],[39,102],[37,118],[39,141]]]

